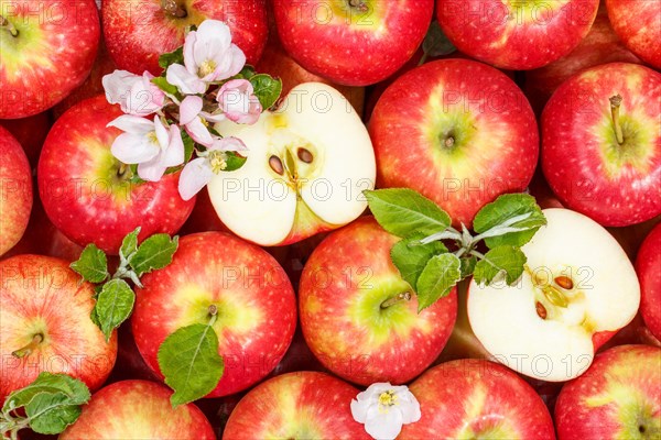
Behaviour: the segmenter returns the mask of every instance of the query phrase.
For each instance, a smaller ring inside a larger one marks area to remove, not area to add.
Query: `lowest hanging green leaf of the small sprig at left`
[[[106,336],[106,341],[110,340],[112,330],[126,321],[131,311],[136,294],[123,279],[112,279],[104,285],[104,289],[97,298],[95,310],[99,328]]]

